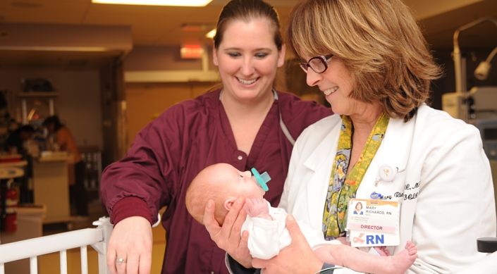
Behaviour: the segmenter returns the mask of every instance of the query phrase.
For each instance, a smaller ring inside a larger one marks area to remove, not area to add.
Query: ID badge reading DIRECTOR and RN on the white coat
[[[352,247],[397,246],[400,243],[397,201],[350,199],[347,215]]]

